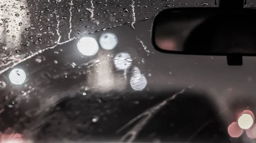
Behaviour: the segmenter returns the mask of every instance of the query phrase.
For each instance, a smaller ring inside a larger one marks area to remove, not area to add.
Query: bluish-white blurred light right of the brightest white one
[[[99,37],[99,44],[105,50],[112,50],[117,43],[117,37],[113,33],[104,33]]]

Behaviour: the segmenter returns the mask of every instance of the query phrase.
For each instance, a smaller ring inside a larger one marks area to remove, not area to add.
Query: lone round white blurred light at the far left
[[[9,74],[9,79],[12,82],[12,84],[23,84],[26,80],[26,73],[22,69],[13,69]]]

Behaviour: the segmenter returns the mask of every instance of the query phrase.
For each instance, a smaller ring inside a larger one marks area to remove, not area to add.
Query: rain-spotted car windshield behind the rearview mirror
[[[153,18],[174,7],[216,5],[1,0],[0,143],[253,141],[256,58],[158,52]]]

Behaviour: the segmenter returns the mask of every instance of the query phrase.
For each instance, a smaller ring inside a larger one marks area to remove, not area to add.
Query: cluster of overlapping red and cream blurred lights
[[[244,110],[236,122],[231,123],[227,131],[230,137],[240,137],[245,131],[250,138],[256,138],[256,124],[254,123],[254,115],[250,110]]]

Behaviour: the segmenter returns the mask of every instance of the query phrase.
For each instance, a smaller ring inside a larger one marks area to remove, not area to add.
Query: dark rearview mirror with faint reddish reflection
[[[256,9],[172,8],[154,18],[157,50],[192,55],[256,56]]]

